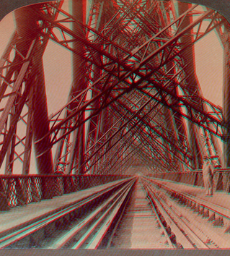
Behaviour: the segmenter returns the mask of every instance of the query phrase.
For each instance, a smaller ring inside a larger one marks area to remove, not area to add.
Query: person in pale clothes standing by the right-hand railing
[[[205,186],[205,195],[213,195],[213,173],[214,168],[208,157],[203,158],[203,184]]]

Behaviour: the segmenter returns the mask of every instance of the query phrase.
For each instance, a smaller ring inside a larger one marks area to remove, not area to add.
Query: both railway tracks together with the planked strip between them
[[[0,248],[229,248],[204,220],[166,187],[133,178],[0,234]]]

